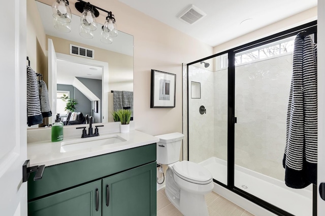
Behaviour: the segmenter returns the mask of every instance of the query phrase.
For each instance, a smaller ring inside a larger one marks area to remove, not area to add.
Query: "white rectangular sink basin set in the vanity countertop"
[[[126,140],[115,135],[110,137],[91,137],[82,138],[71,141],[63,141],[61,143],[60,152],[71,152],[80,149],[88,149],[99,146],[111,145],[115,143],[125,142]]]

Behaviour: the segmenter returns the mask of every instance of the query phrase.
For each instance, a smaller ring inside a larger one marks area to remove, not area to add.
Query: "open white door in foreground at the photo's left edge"
[[[0,214],[27,215],[26,1],[7,1],[2,16],[11,27],[0,36]]]

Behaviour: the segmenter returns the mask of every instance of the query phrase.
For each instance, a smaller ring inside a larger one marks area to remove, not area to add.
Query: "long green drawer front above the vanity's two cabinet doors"
[[[45,167],[43,178],[28,179],[28,200],[68,189],[156,160],[156,144]]]

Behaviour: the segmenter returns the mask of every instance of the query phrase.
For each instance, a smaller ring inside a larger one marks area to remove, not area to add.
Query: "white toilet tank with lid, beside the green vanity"
[[[170,164],[179,161],[184,135],[172,133],[156,137],[159,138],[157,143],[157,163]]]

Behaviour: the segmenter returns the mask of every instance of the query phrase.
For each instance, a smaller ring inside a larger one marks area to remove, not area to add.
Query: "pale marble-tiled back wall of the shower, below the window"
[[[214,72],[214,156],[226,160],[227,70]],[[236,67],[235,163],[284,180],[292,54]]]

